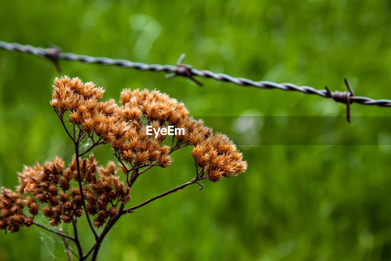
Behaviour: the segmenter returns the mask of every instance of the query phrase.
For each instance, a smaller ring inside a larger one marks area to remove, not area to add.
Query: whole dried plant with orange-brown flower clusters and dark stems
[[[203,121],[188,116],[183,103],[159,91],[130,90],[121,92],[120,107],[114,100],[100,101],[104,90],[92,82],[79,78],[56,78],[50,105],[56,112],[64,130],[74,145],[74,156],[67,167],[59,157],[53,161],[38,162],[23,167],[18,173],[16,191],[1,188],[0,229],[17,232],[21,227],[37,225],[63,238],[68,259],[71,253],[79,260],[97,258],[100,245],[118,219],[155,199],[176,192],[202,179],[219,181],[222,177],[236,176],[247,168],[246,161],[227,136],[204,126]],[[65,119],[71,123],[68,130]],[[157,137],[146,134],[146,126],[153,128],[168,125],[183,128],[185,133],[172,136],[171,146],[163,142],[168,135]],[[81,143],[88,140],[88,147]],[[106,167],[98,166],[91,150],[110,144],[118,166],[109,161]],[[151,198],[134,207],[126,208],[130,191],[138,176],[153,167],[170,166],[170,154],[192,145],[195,177],[187,183]],[[124,173],[116,176],[117,170]],[[39,213],[57,227],[61,222],[72,224],[74,235],[66,235],[45,227],[34,217]],[[28,212],[28,213],[27,213]],[[77,233],[77,219],[85,216],[95,237],[89,251],[84,252]],[[97,234],[96,228],[103,228]],[[70,243],[74,242],[77,250]]]

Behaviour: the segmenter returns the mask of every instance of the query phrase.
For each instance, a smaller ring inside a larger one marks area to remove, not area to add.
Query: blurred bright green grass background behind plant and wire
[[[197,69],[317,89],[344,91],[348,76],[356,95],[387,99],[390,11],[386,0],[1,1],[0,40],[145,63],[175,64],[186,53]],[[61,74],[48,60],[0,50],[1,186],[16,186],[16,172],[37,159],[69,163],[72,144],[49,105],[63,74],[103,86],[105,100],[129,87],[166,92],[229,134],[248,161],[237,177],[122,217],[99,260],[391,259],[391,126],[378,117],[391,109],[353,104],[348,124],[346,106],[319,96],[60,63]],[[255,129],[240,128],[243,115],[258,116]],[[140,176],[129,206],[190,180],[190,151]],[[114,159],[108,146],[94,153],[100,164]],[[79,230],[89,249],[84,221]],[[1,261],[38,259],[66,260],[61,238],[35,227],[0,235]]]

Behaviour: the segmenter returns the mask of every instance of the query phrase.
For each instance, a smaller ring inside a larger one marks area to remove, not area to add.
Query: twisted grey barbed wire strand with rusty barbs
[[[74,53],[63,53],[57,47],[42,48],[34,47],[31,45],[22,45],[18,43],[7,43],[0,41],[0,49],[6,49],[9,51],[20,51],[22,53],[31,53],[36,56],[47,58],[51,60],[56,66],[57,71],[61,71],[58,61],[79,61],[82,63],[97,63],[100,65],[116,65],[123,68],[134,68],[139,71],[152,71],[152,72],[169,72],[166,78],[172,78],[174,76],[183,76],[190,78],[192,81],[202,86],[203,84],[199,80],[195,79],[194,76],[203,78],[212,78],[222,82],[231,82],[242,86],[253,86],[261,89],[280,89],[284,91],[298,91],[305,94],[317,94],[323,98],[332,98],[333,100],[345,103],[347,105],[346,117],[350,122],[350,104],[359,103],[363,105],[376,105],[380,107],[391,107],[391,100],[373,100],[368,97],[355,96],[352,87],[350,87],[348,80],[345,78],[344,82],[348,91],[330,91],[328,87],[325,90],[317,90],[309,86],[298,86],[293,83],[274,83],[268,81],[253,81],[246,78],[235,78],[224,73],[215,73],[208,70],[197,70],[190,65],[183,64],[185,54],[182,54],[176,65],[160,65],[160,64],[147,64],[140,62],[132,62],[123,59],[112,59],[107,57],[93,57],[88,55],[74,54]]]

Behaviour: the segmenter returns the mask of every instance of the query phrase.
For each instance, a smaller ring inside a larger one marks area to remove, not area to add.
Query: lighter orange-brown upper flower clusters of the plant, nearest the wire
[[[95,133],[99,141],[111,143],[117,156],[131,165],[122,165],[125,173],[147,165],[167,167],[171,163],[170,152],[186,145],[194,146],[195,163],[211,181],[246,170],[246,161],[242,161],[242,154],[228,137],[213,135],[203,121],[188,117],[183,103],[167,94],[126,89],[121,92],[122,106],[118,107],[113,100],[100,102],[104,90],[91,82],[83,84],[79,78],[70,80],[65,76],[56,78],[54,83],[52,107],[60,115],[70,110],[69,121],[80,126],[87,136]],[[176,135],[177,143],[170,149],[162,143],[167,135],[159,134],[156,139],[147,136],[146,125],[155,129],[173,125],[184,128],[185,135]]]

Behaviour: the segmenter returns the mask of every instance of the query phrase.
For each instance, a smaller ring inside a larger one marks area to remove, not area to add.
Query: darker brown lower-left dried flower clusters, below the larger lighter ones
[[[83,194],[88,202],[86,211],[96,216],[94,226],[101,227],[109,217],[118,215],[118,202],[127,203],[130,200],[130,188],[115,176],[117,168],[112,161],[106,168],[97,167],[97,161],[91,154],[88,159],[79,159],[79,164]],[[74,217],[81,217],[83,203],[80,190],[71,187],[72,180],[79,181],[75,157],[68,168],[64,169],[64,166],[64,161],[57,156],[53,162],[24,166],[23,171],[18,173],[17,192],[2,188],[0,228],[16,232],[22,225],[32,225],[34,216],[39,212],[36,199],[39,203],[45,203],[43,215],[52,226],[61,222],[71,223]],[[25,200],[23,194],[28,194]],[[23,207],[29,209],[32,217],[23,215]]]

